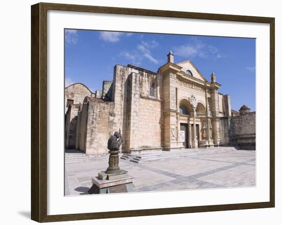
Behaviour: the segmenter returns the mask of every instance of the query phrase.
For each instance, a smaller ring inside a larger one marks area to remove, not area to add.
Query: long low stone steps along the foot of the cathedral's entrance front
[[[148,161],[166,160],[166,159],[180,159],[189,156],[209,155],[215,153],[236,151],[234,147],[211,147],[211,148],[186,148],[174,152],[156,152],[156,153],[141,153],[141,154],[124,154],[120,159],[130,160],[131,162],[140,163]]]

